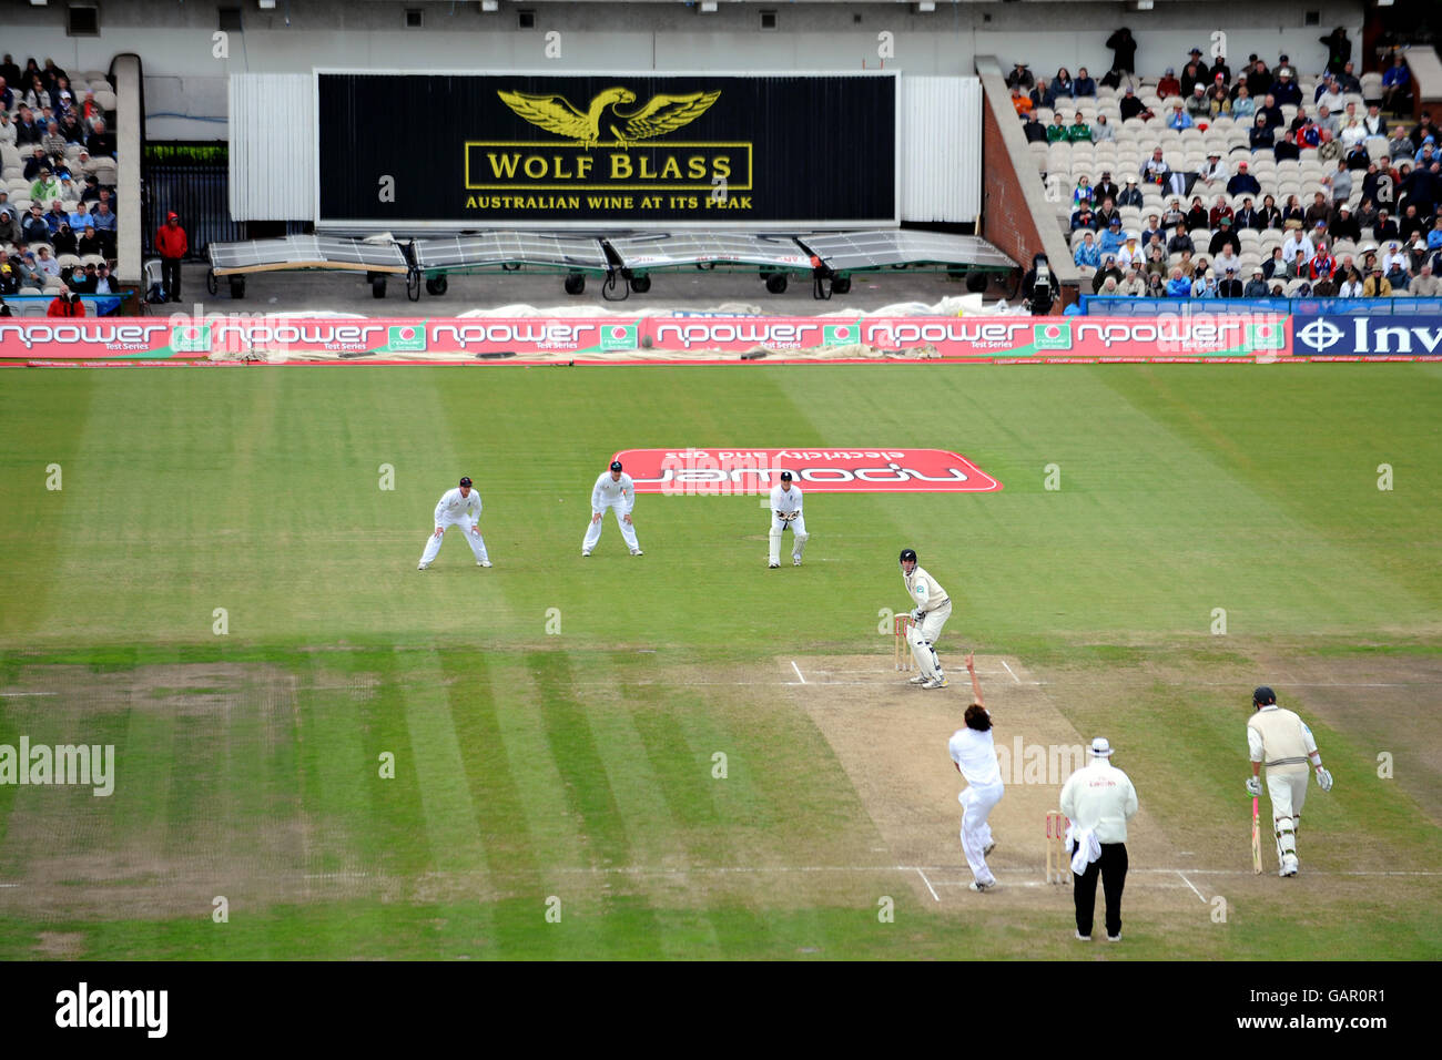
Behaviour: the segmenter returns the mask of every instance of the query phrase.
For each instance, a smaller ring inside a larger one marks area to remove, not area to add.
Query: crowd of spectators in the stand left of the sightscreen
[[[0,59],[0,296],[112,290],[115,97],[87,78]]]

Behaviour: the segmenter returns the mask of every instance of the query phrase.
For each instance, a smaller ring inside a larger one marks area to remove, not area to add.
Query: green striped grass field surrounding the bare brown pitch
[[[906,545],[950,648],[1123,733],[1198,849],[1246,857],[1252,685],[1312,723],[1330,874],[1249,880],[1226,924],[1144,903],[1105,956],[1436,959],[1442,875],[1345,874],[1442,873],[1439,410],[1409,363],[0,372],[0,744],[120,770],[0,785],[0,959],[1073,956],[1064,901],[933,909],[883,871],[826,737],[747,681],[890,668]],[[646,555],[607,516],[583,561],[610,454],[685,446],[952,449],[1005,489],[808,495],[799,571],[756,498],[642,496]],[[420,574],[460,474],[496,565],[450,541]]]

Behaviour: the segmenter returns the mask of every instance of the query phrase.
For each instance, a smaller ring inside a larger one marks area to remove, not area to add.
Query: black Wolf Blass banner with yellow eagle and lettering
[[[319,218],[897,224],[895,76],[316,74]]]

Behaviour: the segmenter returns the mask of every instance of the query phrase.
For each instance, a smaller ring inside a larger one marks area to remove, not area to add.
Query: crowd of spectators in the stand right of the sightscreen
[[[1122,36],[1125,33],[1125,36]],[[1327,65],[1237,71],[1193,49],[1136,78],[1136,43],[1079,69],[1007,76],[1084,288],[1168,299],[1442,294],[1442,131],[1410,120],[1403,53],[1360,75],[1343,29]],[[1105,133],[1099,134],[1099,128]],[[1120,183],[1118,183],[1120,180]]]

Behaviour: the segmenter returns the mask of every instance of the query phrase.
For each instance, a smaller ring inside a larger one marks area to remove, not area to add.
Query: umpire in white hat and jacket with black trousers
[[[1126,822],[1136,816],[1136,789],[1131,777],[1112,764],[1106,737],[1092,741],[1092,761],[1061,787],[1061,812],[1071,826],[1067,849],[1071,858],[1071,896],[1077,907],[1077,939],[1092,942],[1096,910],[1096,880],[1106,896],[1106,940],[1122,940],[1122,887],[1126,885]],[[1086,865],[1079,873],[1077,867]]]

